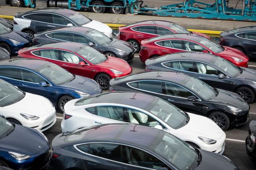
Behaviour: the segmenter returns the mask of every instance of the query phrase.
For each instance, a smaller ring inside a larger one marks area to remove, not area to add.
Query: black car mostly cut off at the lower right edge
[[[249,124],[249,136],[245,140],[246,152],[252,161],[256,161],[256,120]]]

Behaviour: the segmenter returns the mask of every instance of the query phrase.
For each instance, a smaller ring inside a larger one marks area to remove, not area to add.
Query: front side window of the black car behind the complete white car
[[[177,96],[182,98],[187,98],[188,96],[193,96],[189,90],[185,89],[184,87],[181,87],[179,85],[173,84],[173,83],[164,83],[164,94],[171,95],[171,96]]]

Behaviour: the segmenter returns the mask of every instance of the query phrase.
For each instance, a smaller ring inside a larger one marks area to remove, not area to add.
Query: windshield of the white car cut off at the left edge
[[[25,97],[25,93],[7,83],[0,80],[0,107],[5,107],[17,103]]]

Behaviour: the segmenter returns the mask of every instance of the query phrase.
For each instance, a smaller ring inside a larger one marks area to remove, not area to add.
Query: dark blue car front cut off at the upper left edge
[[[19,31],[12,31],[0,23],[0,47],[6,49],[10,54],[17,54],[24,47],[30,47],[32,39]]]

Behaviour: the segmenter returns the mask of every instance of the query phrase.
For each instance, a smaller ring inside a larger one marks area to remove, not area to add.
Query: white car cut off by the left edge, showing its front
[[[40,132],[56,122],[56,110],[48,99],[25,93],[4,80],[0,80],[0,115]]]

